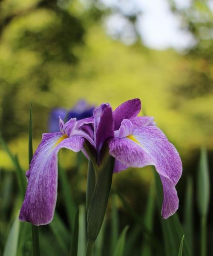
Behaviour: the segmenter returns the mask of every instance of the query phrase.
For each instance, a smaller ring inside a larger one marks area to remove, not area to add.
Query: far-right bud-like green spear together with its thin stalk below
[[[198,177],[197,177],[197,204],[201,215],[201,238],[200,249],[201,256],[207,255],[207,213],[209,208],[210,188],[209,188],[209,169],[207,160],[207,151],[201,148],[199,161]]]

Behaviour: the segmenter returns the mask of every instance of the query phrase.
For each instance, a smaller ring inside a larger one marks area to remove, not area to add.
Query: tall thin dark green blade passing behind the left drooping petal
[[[28,141],[29,165],[31,163],[32,156],[33,156],[33,150],[32,150],[32,102],[31,102],[30,111],[29,111],[29,141]],[[32,241],[33,241],[32,244],[33,244],[34,256],[40,256],[38,227],[34,226],[33,224],[32,224]]]

